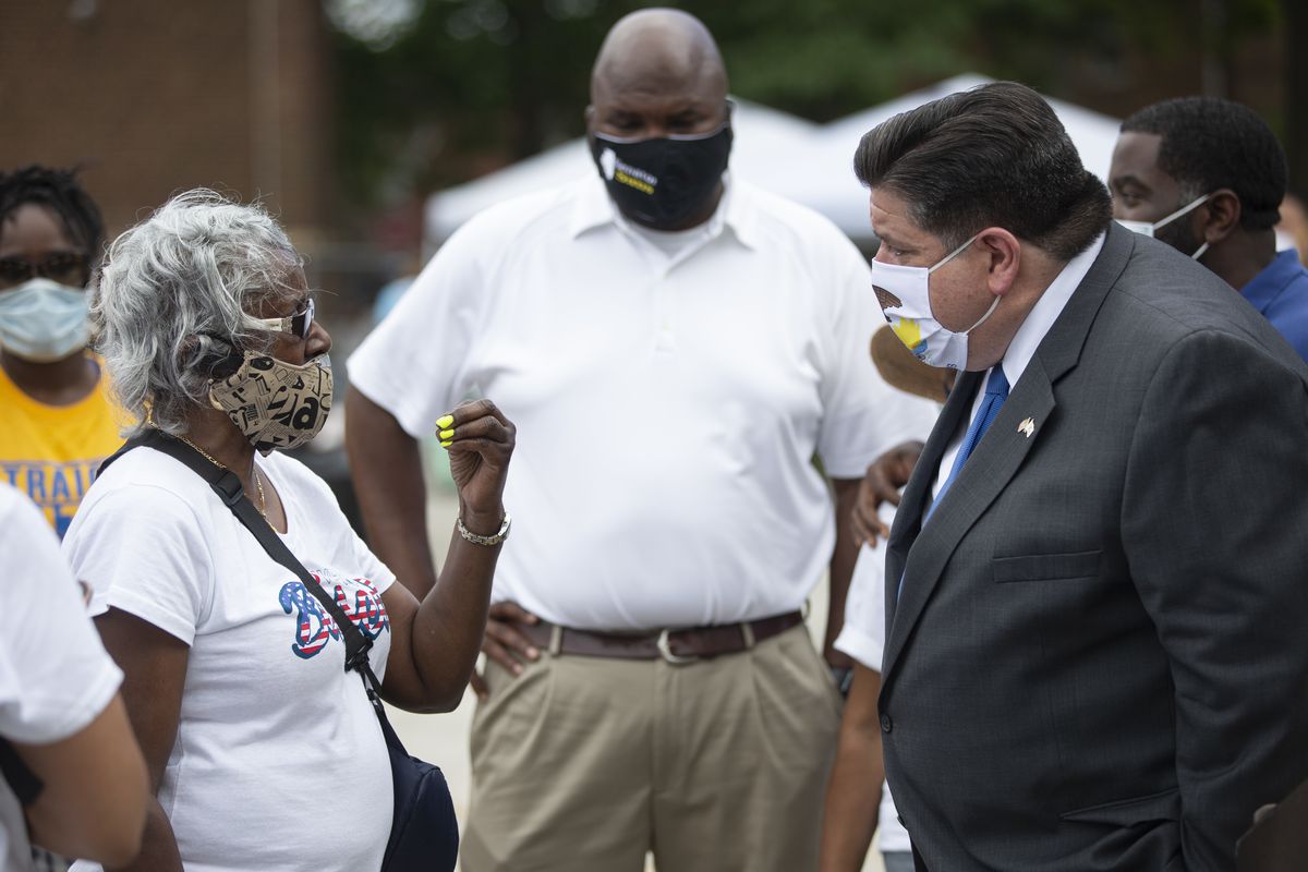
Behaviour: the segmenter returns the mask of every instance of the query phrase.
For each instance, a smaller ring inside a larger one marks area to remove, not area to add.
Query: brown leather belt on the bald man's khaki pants
[[[785,633],[804,622],[800,612],[786,612],[744,624],[691,626],[658,633],[596,633],[574,630],[548,621],[515,625],[536,647],[551,654],[573,654],[585,658],[619,658],[623,660],[657,660],[693,663],[723,654],[739,654],[764,639]]]

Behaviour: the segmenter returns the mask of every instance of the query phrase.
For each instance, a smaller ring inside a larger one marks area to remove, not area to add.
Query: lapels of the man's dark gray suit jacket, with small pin
[[[891,532],[886,575],[888,626],[882,660],[883,686],[889,682],[896,660],[940,583],[944,566],[959,543],[1008,485],[1027,454],[1040,441],[1042,426],[1057,407],[1054,383],[1079,361],[1099,307],[1125,269],[1133,247],[1129,230],[1116,224],[1109,225],[1104,248],[1086,278],[1041,340],[998,417],[931,514],[931,520],[921,527],[926,497],[939,471],[940,458],[961,418],[972,408],[981,374],[968,373],[964,377],[968,386],[965,397],[950,397],[918,460],[909,489],[904,493],[900,515],[908,510],[908,518],[896,515]],[[960,386],[963,383],[960,380]],[[1027,418],[1031,418],[1029,426]],[[893,592],[901,577],[904,591],[899,601],[893,603]]]

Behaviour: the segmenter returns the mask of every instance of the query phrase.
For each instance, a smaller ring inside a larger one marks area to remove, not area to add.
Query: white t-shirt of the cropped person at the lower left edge
[[[0,482],[0,736],[61,741],[112,701],[123,673],[105,652],[59,539],[26,497]],[[0,868],[30,868],[27,826],[0,779]]]

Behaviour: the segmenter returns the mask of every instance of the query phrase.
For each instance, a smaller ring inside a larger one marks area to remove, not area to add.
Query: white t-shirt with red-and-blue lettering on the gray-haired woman
[[[286,510],[283,540],[373,637],[381,677],[394,575],[320,478],[280,454],[258,463]],[[187,872],[379,868],[390,761],[362,681],[344,671],[344,639],[209,485],[167,455],[131,451],[88,492],[64,552],[95,590],[94,613],[122,609],[190,646],[158,794]]]

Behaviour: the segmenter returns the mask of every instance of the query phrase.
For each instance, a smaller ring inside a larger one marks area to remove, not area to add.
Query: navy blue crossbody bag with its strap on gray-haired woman
[[[110,463],[137,446],[162,451],[204,478],[246,529],[259,540],[268,556],[293,571],[336,621],[345,639],[345,671],[358,672],[362,679],[364,690],[377,713],[382,735],[386,737],[386,750],[391,758],[395,811],[391,817],[391,835],[386,841],[386,854],[382,858],[382,872],[451,872],[459,854],[459,824],[454,816],[450,788],[441,769],[412,757],[391,728],[377,692],[381,684],[368,663],[368,651],[373,647],[373,641],[354,626],[303,563],[296,560],[254,503],[246,498],[241,480],[230,469],[209,463],[179,439],[160,430],[149,430],[141,437],[129,439],[101,464],[99,471],[103,472]]]

